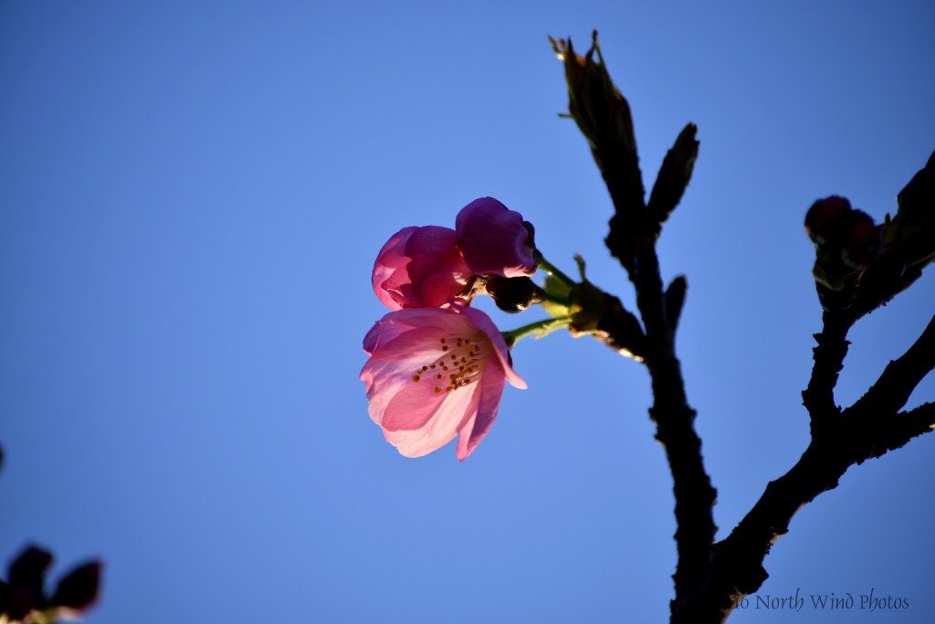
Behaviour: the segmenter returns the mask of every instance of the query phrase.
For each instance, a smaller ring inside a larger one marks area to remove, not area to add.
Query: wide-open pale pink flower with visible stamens
[[[506,382],[526,386],[493,321],[463,305],[390,312],[367,333],[364,351],[368,412],[406,457],[457,435],[463,460],[494,424]]]

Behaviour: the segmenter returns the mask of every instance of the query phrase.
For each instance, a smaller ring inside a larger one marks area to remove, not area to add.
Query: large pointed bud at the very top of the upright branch
[[[565,64],[568,114],[591,149],[636,154],[630,105],[611,81],[597,45],[597,31],[592,34],[591,49],[584,56],[574,51],[570,38],[555,40],[550,36],[549,41],[555,55]]]

